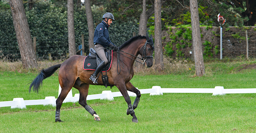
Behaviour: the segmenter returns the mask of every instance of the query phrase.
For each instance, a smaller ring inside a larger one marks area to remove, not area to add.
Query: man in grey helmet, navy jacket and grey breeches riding
[[[115,20],[114,16],[112,15],[112,13],[107,12],[103,15],[102,19],[102,22],[99,25],[97,25],[93,37],[93,43],[95,44],[95,52],[102,60],[102,62],[96,68],[95,72],[89,78],[94,84],[98,84],[98,82],[96,81],[96,76],[108,62],[104,52],[106,47],[110,47],[111,49],[118,49],[118,47],[114,45],[109,39],[108,29],[112,23],[112,20]]]

